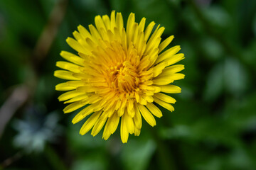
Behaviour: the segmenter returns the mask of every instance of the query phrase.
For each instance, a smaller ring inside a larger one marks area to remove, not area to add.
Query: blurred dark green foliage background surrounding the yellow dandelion
[[[186,59],[175,111],[122,144],[79,135],[53,77],[65,39],[98,14],[134,12]],[[0,169],[256,169],[255,0],[1,0]]]

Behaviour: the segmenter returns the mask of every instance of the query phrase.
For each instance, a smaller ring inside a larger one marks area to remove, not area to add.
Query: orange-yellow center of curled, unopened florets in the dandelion
[[[112,89],[115,91],[132,92],[139,86],[139,74],[137,68],[131,62],[125,61],[117,63],[117,66],[110,68],[110,79],[112,82]]]

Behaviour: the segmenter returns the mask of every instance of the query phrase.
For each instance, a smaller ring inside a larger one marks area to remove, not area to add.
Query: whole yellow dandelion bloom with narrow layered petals
[[[164,27],[154,22],[145,28],[146,18],[135,22],[134,13],[129,15],[126,29],[121,13],[112,11],[111,16],[96,16],[95,26],[89,30],[78,26],[68,45],[78,52],[74,55],[62,51],[60,55],[68,62],[57,62],[54,76],[68,81],[55,86],[57,91],[68,91],[60,95],[59,101],[69,103],[64,113],[79,108],[73,123],[90,115],[80,129],[85,135],[92,129],[97,135],[103,126],[102,138],[107,140],[119,125],[121,140],[126,143],[129,134],[138,136],[142,128],[142,117],[149,125],[156,125],[154,116],[160,118],[162,106],[174,111],[171,103],[176,100],[166,94],[181,92],[175,80],[183,79],[184,55],[177,52],[180,46],[164,49],[174,36],[161,42]]]

